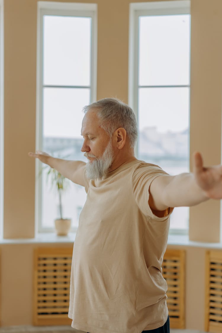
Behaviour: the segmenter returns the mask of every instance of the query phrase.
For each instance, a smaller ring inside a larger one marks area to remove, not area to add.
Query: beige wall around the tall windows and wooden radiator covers
[[[97,3],[97,99],[115,96],[127,102],[130,0]],[[4,237],[32,238],[35,163],[27,153],[35,150],[37,1],[5,0],[4,15]],[[222,1],[191,0],[190,151],[201,151],[206,165],[221,161],[221,31]],[[219,201],[192,207],[191,240],[217,242],[219,226]],[[3,326],[32,323],[33,247],[1,245]],[[186,327],[201,330],[204,255],[204,249],[187,249]]]

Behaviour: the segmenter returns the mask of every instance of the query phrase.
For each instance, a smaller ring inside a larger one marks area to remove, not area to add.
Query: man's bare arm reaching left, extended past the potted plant
[[[57,159],[40,151],[37,151],[36,153],[29,152],[28,155],[39,159],[42,163],[48,164],[52,168],[59,171],[64,177],[72,180],[74,183],[85,186],[85,162]]]

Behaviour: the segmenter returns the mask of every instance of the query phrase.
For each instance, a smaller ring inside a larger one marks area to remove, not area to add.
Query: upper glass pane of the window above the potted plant
[[[91,20],[44,16],[44,85],[90,85]]]

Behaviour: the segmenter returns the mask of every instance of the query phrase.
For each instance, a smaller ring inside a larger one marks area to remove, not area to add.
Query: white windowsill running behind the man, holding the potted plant
[[[76,232],[70,232],[67,236],[57,236],[55,233],[39,233],[35,238],[2,239],[0,244],[44,244],[44,243],[70,243],[75,241]],[[204,247],[222,249],[222,243],[204,243],[189,240],[188,235],[169,235],[168,245]]]

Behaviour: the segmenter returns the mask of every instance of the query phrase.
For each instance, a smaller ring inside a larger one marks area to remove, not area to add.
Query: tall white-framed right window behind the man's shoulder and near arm
[[[129,104],[137,114],[137,157],[175,175],[189,171],[189,1],[130,5]],[[188,231],[175,208],[171,232]]]

